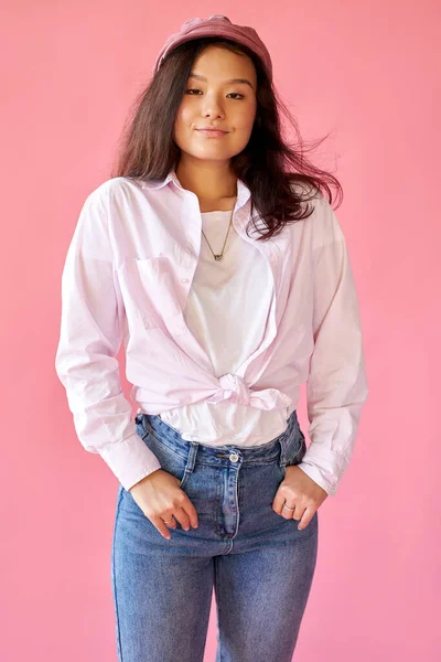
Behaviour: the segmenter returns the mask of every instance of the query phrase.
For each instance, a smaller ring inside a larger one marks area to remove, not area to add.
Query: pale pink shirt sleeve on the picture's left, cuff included
[[[116,355],[122,342],[123,303],[114,275],[105,201],[98,190],[89,194],[67,249],[55,371],[80,444],[99,453],[129,490],[161,465],[137,434],[121,389]]]

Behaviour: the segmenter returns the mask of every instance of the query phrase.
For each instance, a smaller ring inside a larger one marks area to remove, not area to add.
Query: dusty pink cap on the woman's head
[[[254,28],[248,28],[247,25],[235,25],[228,17],[224,17],[223,14],[215,14],[207,19],[196,18],[185,21],[185,23],[181,25],[181,31],[171,34],[162,46],[154,64],[154,73],[158,72],[164,57],[175,46],[201,36],[225,36],[226,39],[232,39],[239,44],[248,46],[248,49],[260,57],[267,70],[269,79],[272,79],[271,57],[267,46],[259,38],[256,30],[254,30]]]

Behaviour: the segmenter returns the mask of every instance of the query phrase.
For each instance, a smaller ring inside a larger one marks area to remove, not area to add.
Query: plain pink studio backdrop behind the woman
[[[352,465],[320,509],[295,662],[434,662],[441,11],[429,0],[3,8],[2,660],[117,660],[118,484],[80,447],[54,372],[61,270],[80,205],[108,179],[165,38],[213,13],[256,28],[302,136],[331,132],[315,159],[344,186],[337,216],[362,309],[370,393]],[[304,389],[299,417],[305,430]],[[215,638],[212,611],[205,662]]]

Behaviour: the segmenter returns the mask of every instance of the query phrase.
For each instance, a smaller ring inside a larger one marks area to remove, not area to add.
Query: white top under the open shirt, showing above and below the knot
[[[202,213],[202,227],[214,253],[222,253],[230,211]],[[204,236],[186,301],[185,322],[211,359],[215,375],[235,373],[259,346],[273,296],[269,265],[259,249],[229,228],[222,259],[215,260]],[[292,409],[291,409],[292,410]],[[288,408],[263,410],[222,401],[202,401],[161,413],[187,441],[208,446],[267,444],[287,427]]]

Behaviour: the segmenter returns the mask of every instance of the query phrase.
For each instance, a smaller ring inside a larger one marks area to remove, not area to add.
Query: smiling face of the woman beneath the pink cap
[[[193,64],[174,124],[181,158],[228,161],[239,153],[252,131],[256,93],[256,70],[248,56],[215,45],[205,49]],[[216,137],[200,130],[208,126],[226,132]]]

